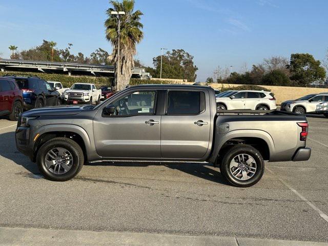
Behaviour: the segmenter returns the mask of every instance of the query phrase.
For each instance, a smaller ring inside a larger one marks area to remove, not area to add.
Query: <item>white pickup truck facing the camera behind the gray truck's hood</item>
[[[97,90],[94,84],[76,83],[64,93],[66,104],[99,104],[101,90]]]

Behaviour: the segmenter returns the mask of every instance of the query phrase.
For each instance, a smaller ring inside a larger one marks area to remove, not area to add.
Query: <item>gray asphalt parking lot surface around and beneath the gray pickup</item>
[[[308,120],[311,159],[267,163],[242,189],[198,163],[99,163],[48,181],[0,119],[0,227],[328,242],[328,118]]]

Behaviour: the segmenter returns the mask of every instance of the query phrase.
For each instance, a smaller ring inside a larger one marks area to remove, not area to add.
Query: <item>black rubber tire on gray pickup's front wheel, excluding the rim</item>
[[[71,168],[68,172],[63,174],[55,174],[51,172],[46,166],[46,155],[54,148],[65,148],[72,155]],[[36,156],[37,166],[39,171],[49,180],[52,181],[67,181],[75,177],[83,167],[84,155],[81,147],[72,139],[66,137],[56,137],[45,142],[37,152]]]

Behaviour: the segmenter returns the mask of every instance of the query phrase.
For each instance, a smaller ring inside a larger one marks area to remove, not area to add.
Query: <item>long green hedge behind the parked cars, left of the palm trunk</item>
[[[47,81],[58,81],[63,84],[64,87],[71,87],[74,83],[92,83],[95,84],[97,88],[103,85],[110,85],[111,78],[108,77],[92,77],[92,76],[68,76],[65,74],[50,74],[50,73],[33,73],[33,72],[0,72],[0,76],[6,74],[22,75],[22,76],[38,76]]]

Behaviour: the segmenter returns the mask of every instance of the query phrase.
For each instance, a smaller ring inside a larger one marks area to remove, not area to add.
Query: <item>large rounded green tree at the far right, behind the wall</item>
[[[288,68],[291,72],[291,79],[295,80],[299,86],[309,86],[317,80],[324,80],[326,72],[311,54],[297,53],[291,55]]]

